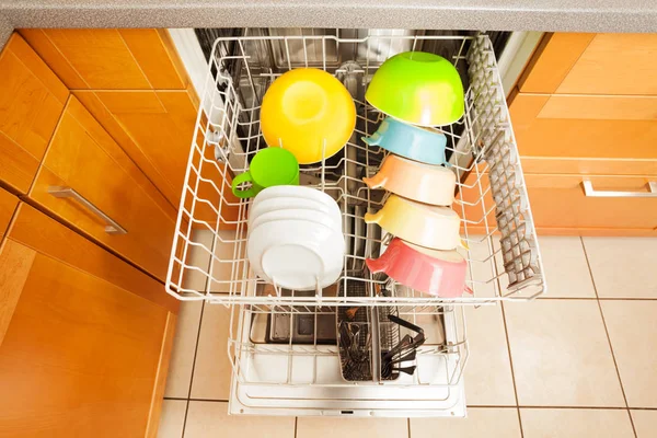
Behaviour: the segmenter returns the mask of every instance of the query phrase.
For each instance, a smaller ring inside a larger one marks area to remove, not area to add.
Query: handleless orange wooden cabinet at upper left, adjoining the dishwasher
[[[199,102],[169,33],[165,30],[20,32],[177,209]],[[204,120],[201,124],[205,128]],[[206,159],[215,160],[211,147]],[[200,176],[205,181],[199,183],[199,193],[212,206],[219,206],[219,192],[212,184],[223,193],[222,229],[234,228],[239,199],[230,189],[232,175],[221,175],[206,165]],[[195,217],[214,227],[218,215],[212,207],[199,205],[198,209],[203,211],[195,211]]]

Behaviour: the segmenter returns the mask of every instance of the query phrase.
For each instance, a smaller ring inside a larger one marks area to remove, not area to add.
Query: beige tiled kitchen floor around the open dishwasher
[[[540,244],[545,298],[466,310],[466,419],[228,416],[229,313],[185,303],[159,436],[657,437],[657,239]]]

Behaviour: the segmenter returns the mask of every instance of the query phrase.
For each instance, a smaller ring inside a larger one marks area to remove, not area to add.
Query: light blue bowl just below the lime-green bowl
[[[385,117],[379,129],[370,137],[362,137],[362,141],[414,161],[435,165],[447,164],[445,134],[408,125],[392,117]]]

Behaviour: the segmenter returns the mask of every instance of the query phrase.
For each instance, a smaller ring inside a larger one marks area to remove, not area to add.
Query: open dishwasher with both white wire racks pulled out
[[[214,36],[206,48],[166,291],[180,300],[231,310],[229,413],[465,416],[464,307],[530,300],[546,290],[491,35],[246,28],[215,30]],[[365,101],[365,90],[385,59],[408,50],[452,61],[466,90],[463,117],[441,127],[450,169],[457,173],[453,209],[461,217],[469,264],[471,293],[459,298],[417,292],[365,265],[392,238],[364,221],[388,196],[361,180],[376,174],[384,158],[382,149],[361,140],[383,119]],[[301,165],[300,172],[302,185],[331,195],[341,208],[347,249],[342,275],[331,287],[295,291],[265,284],[251,269],[245,254],[251,201],[232,197],[230,181],[249,170],[251,158],[266,147],[260,127],[265,91],[284,72],[306,67],[325,70],[344,83],[356,105],[357,125],[339,153]],[[211,239],[195,241],[199,230]],[[189,263],[192,252],[209,257],[208,268]],[[191,281],[192,276],[204,281]],[[349,326],[357,324],[354,333],[338,328],[345,315],[354,321]],[[426,342],[400,367],[413,372],[382,367],[385,351],[420,332]],[[358,342],[345,346],[347,337]],[[356,353],[362,360],[354,366],[349,358]]]

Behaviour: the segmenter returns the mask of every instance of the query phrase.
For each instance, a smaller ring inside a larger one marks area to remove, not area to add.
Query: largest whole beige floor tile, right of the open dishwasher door
[[[625,406],[597,301],[504,309],[521,406]]]

